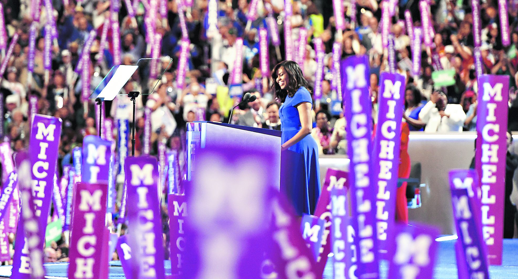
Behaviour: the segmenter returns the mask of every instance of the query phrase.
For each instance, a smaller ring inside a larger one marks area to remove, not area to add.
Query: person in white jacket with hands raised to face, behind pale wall
[[[421,109],[419,119],[426,123],[425,132],[462,132],[466,114],[459,104],[448,104],[446,95],[435,90]]]

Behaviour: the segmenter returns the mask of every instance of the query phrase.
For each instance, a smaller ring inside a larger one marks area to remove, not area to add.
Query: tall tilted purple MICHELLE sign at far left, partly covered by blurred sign
[[[61,119],[57,117],[39,114],[33,116],[31,138],[29,141],[29,157],[30,165],[32,165],[30,168],[31,175],[29,175],[28,172],[23,174],[18,172],[18,175],[20,186],[23,180],[32,177],[32,181],[28,183],[28,193],[31,193],[32,184],[32,195],[34,195],[34,197],[30,194],[31,201],[25,200],[25,205],[23,205],[22,200],[21,204],[22,206],[27,206],[34,202],[34,216],[24,217],[24,220],[37,220],[38,231],[29,232],[26,231],[25,226],[18,226],[15,256],[13,257],[15,261],[13,262],[12,268],[13,276],[16,278],[30,278],[31,269],[33,273],[35,270],[33,263],[37,264],[37,261],[33,261],[31,258],[31,249],[29,249],[29,253],[23,249],[27,238],[30,238],[28,235],[31,234],[41,241],[45,239],[45,229],[47,228],[47,217],[49,216],[52,187],[54,185],[54,173],[56,173],[57,151],[61,137],[61,123]],[[22,177],[23,179],[21,179]],[[22,190],[21,187],[20,190]],[[30,206],[30,208],[33,207]],[[24,214],[22,214],[22,216],[23,215]],[[25,233],[27,233],[27,238],[24,238]],[[33,243],[30,245],[32,244]],[[39,245],[38,243],[36,244]],[[37,249],[41,249],[42,245],[36,247]]]

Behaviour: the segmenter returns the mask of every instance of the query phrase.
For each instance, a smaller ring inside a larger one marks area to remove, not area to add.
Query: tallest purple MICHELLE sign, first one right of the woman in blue
[[[344,116],[350,121],[346,125],[350,156],[349,185],[351,187],[351,224],[357,234],[354,244],[358,247],[358,278],[378,278],[378,245],[376,238],[376,217],[373,203],[377,189],[369,189],[371,172],[371,101],[369,96],[368,57],[357,56],[342,60],[342,85],[344,86]],[[377,187],[376,187],[377,188]]]

